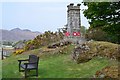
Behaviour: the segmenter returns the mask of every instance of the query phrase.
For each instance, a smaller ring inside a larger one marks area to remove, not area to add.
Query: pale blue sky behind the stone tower
[[[67,24],[67,5],[82,0],[4,0],[0,2],[0,25],[2,29],[29,29],[32,31],[57,31]],[[81,9],[87,7],[81,5]],[[89,27],[81,11],[81,25]]]

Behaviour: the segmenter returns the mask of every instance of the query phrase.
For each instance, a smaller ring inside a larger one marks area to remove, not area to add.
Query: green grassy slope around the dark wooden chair
[[[86,78],[93,77],[96,71],[101,70],[109,65],[109,61],[105,58],[94,58],[86,63],[76,64],[71,59],[72,45],[68,46],[63,53],[52,54],[51,52],[43,52],[41,49],[26,52],[21,55],[11,56],[3,60],[3,78],[22,78],[23,72],[18,72],[18,59],[27,58],[28,53],[34,53],[40,56],[39,62],[39,78]],[[55,52],[56,53],[56,52]],[[34,73],[34,72],[33,72]]]

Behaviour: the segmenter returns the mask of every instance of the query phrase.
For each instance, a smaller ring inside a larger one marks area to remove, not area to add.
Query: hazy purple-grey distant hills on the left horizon
[[[15,28],[12,30],[3,30],[0,29],[0,33],[2,33],[3,41],[19,41],[19,40],[30,40],[34,39],[37,35],[40,35],[40,32],[33,32],[28,29],[21,30],[19,28]]]

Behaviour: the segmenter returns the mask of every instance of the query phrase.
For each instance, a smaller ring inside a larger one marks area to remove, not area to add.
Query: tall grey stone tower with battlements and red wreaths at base
[[[67,6],[67,32],[68,38],[72,41],[78,41],[80,39],[80,4],[74,6],[73,3]]]

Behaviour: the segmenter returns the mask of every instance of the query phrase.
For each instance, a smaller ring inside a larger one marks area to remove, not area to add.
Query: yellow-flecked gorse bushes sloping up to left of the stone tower
[[[63,39],[63,33],[61,32],[50,32],[46,31],[44,34],[40,34],[33,40],[26,42],[24,49],[33,50],[42,46],[50,45],[51,43],[57,42]]]

